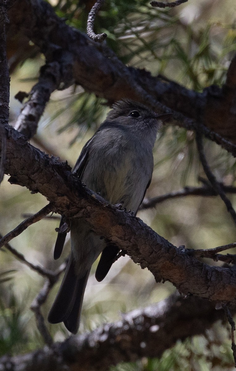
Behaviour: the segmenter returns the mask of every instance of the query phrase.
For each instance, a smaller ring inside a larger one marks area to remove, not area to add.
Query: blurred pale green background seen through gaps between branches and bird
[[[86,29],[91,1],[51,1],[67,23]],[[106,32],[107,43],[124,63],[162,74],[187,88],[202,91],[222,85],[236,50],[236,4],[233,0],[191,0],[174,9],[152,8],[144,0],[107,0],[96,18],[96,32]],[[43,55],[27,58],[13,69],[10,92],[10,123],[14,125],[21,104],[18,91],[29,92],[36,83]],[[86,141],[109,110],[104,99],[72,86],[54,92],[31,144],[67,160],[71,166]],[[209,165],[218,180],[235,185],[235,160],[218,145],[205,141]],[[154,148],[154,173],[146,197],[200,185],[204,177],[197,156],[195,135],[179,127],[163,127]],[[23,219],[36,213],[47,200],[40,194],[10,185],[5,176],[0,188],[0,233],[6,234]],[[235,196],[230,196],[235,205]],[[176,246],[206,249],[235,242],[236,228],[219,197],[185,197],[167,200],[138,216]],[[44,219],[30,226],[10,243],[27,260],[56,269],[69,254],[69,240],[60,261],[53,260],[55,228],[59,220]],[[229,251],[234,253],[234,250]],[[0,355],[19,354],[43,345],[30,305],[43,287],[44,278],[1,249],[0,267]],[[210,261],[210,264],[216,264]],[[220,264],[220,263],[219,263]],[[104,322],[115,321],[121,312],[144,307],[167,298],[175,288],[157,284],[152,274],[129,257],[114,263],[103,282],[94,277],[93,267],[83,302],[79,332],[90,331]],[[45,318],[59,288],[53,288],[43,306]],[[49,325],[56,341],[69,333],[62,324]],[[233,370],[229,331],[216,324],[204,336],[195,336],[166,351],[160,360],[143,359],[123,364],[117,370]]]

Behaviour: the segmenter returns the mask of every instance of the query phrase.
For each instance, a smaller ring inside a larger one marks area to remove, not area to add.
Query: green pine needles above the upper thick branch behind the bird
[[[62,1],[56,6],[69,24],[86,31],[89,8],[84,1]],[[217,37],[214,33],[217,30]],[[157,9],[146,0],[106,1],[95,20],[95,31],[106,32],[107,43],[124,63],[165,74],[177,65],[177,80],[201,91],[211,84],[222,84],[227,60],[236,50],[234,24],[199,18],[186,23],[178,10]],[[168,73],[167,73],[168,75]]]

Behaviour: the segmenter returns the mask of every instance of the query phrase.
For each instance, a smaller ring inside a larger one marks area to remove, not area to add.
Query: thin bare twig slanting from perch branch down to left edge
[[[19,236],[26,228],[31,224],[36,223],[41,220],[45,215],[49,214],[51,211],[54,211],[54,206],[52,203],[47,204],[40,211],[38,211],[33,216],[30,216],[28,219],[23,220],[16,228],[11,232],[7,233],[4,237],[0,239],[0,247],[12,240],[14,237]]]

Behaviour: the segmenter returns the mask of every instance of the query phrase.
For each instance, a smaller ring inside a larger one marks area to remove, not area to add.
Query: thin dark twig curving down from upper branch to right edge
[[[199,158],[200,158],[200,161],[202,162],[202,167],[203,167],[203,170],[205,171],[207,179],[209,180],[213,189],[219,194],[220,198],[225,203],[225,206],[227,207],[228,212],[230,213],[233,221],[236,224],[236,212],[233,209],[232,203],[230,202],[229,198],[226,197],[225,192],[223,191],[222,185],[216,180],[215,175],[213,175],[212,171],[210,170],[210,167],[207,163],[206,156],[203,150],[202,133],[200,133],[199,131],[196,131],[196,143],[197,143],[197,150],[199,153]]]

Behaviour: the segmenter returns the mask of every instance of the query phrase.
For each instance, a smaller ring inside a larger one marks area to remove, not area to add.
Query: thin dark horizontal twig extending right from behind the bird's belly
[[[227,193],[236,193],[236,187],[222,185],[222,189]],[[186,197],[186,196],[218,196],[218,193],[212,188],[210,184],[203,185],[202,187],[184,187],[179,191],[170,192],[161,196],[150,198],[149,200],[143,200],[140,205],[140,210],[154,207],[156,204],[169,200],[170,198]]]

